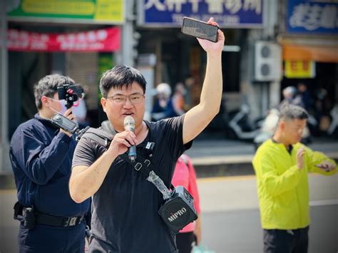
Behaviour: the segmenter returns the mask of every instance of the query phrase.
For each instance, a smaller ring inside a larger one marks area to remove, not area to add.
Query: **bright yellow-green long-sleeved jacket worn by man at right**
[[[304,167],[296,165],[296,153],[304,147]],[[299,229],[307,227],[309,219],[308,172],[333,175],[315,165],[329,160],[323,153],[314,152],[301,143],[293,146],[291,154],[281,143],[267,140],[258,148],[252,165],[257,177],[260,218],[263,229]],[[333,160],[330,160],[336,164]]]

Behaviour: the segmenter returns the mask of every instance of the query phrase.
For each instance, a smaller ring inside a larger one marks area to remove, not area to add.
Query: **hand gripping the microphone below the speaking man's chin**
[[[136,140],[135,133],[126,130],[116,133],[107,152],[113,153],[113,155],[121,155],[126,153],[131,145],[138,145],[138,140]]]

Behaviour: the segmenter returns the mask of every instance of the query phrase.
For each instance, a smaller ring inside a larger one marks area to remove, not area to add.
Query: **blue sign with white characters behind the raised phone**
[[[262,11],[262,0],[140,0],[138,25],[179,27],[184,16],[212,16],[221,27],[260,28]]]

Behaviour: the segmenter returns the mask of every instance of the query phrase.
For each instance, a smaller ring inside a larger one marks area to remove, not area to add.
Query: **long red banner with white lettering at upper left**
[[[30,33],[9,29],[9,51],[74,51],[112,52],[120,49],[121,31],[118,27],[81,33]]]

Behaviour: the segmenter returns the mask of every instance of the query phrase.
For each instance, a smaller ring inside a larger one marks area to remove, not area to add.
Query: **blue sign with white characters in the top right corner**
[[[287,4],[289,33],[338,33],[338,2],[289,0]]]

